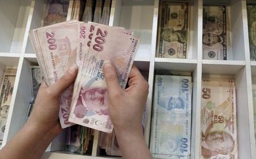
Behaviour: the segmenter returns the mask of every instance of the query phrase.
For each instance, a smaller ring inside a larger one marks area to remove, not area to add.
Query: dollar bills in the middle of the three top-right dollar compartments
[[[232,60],[227,6],[203,8],[202,58]]]

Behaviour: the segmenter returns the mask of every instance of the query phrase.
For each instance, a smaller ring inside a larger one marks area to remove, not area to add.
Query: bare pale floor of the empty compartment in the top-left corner
[[[10,52],[21,0],[0,1],[0,52]]]

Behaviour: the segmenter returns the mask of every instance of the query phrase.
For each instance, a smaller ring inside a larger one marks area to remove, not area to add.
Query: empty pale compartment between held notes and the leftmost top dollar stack
[[[137,57],[151,56],[153,1],[123,1],[119,27],[132,30],[139,37]]]

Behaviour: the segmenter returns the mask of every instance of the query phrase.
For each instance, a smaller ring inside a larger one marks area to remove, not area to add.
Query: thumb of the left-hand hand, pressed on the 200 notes
[[[75,81],[76,74],[78,74],[78,67],[74,64],[68,68],[67,72],[57,82],[48,87],[48,89],[50,89],[53,95],[60,95]]]

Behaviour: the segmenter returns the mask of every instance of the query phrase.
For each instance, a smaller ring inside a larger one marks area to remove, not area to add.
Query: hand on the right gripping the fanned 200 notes
[[[109,95],[109,116],[116,135],[143,137],[142,116],[148,97],[148,82],[133,66],[129,74],[129,87],[123,90],[111,62],[105,62],[103,71]]]

